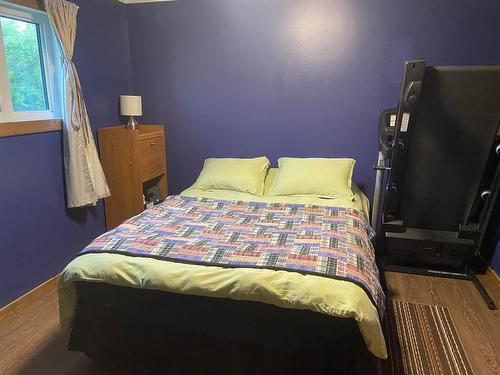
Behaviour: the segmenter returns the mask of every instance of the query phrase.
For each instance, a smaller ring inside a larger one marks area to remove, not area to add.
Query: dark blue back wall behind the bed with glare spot
[[[143,121],[167,126],[171,193],[210,156],[351,156],[371,197],[377,119],[396,105],[402,62],[500,64],[497,0],[183,0],[127,10]],[[500,251],[494,264],[500,271]]]

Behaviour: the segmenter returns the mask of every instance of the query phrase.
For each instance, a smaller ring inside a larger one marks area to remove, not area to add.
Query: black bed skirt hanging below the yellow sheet
[[[127,373],[375,374],[353,319],[78,282],[69,350]]]

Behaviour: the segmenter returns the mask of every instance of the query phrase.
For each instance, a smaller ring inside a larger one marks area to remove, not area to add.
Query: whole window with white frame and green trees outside
[[[59,117],[59,56],[46,13],[0,1],[0,122]]]

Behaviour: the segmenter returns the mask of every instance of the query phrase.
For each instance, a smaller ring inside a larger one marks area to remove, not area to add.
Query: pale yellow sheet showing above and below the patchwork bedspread
[[[250,194],[187,189],[182,194],[195,197],[241,199],[272,202],[313,203],[367,210],[368,200],[361,192],[354,199],[313,197],[255,197]],[[363,203],[363,200],[366,202]],[[363,208],[363,205],[365,205]],[[367,211],[365,211],[367,212]],[[312,310],[333,317],[353,318],[368,349],[387,358],[378,312],[366,292],[342,280],[297,272],[251,268],[221,268],[174,263],[119,254],[86,254],[64,269],[59,280],[61,325],[71,326],[76,308],[76,281],[154,289],[173,293],[256,301],[275,306]]]

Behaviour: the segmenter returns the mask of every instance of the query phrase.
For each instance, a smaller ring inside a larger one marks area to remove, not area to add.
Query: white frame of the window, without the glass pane
[[[0,27],[0,123],[60,118],[61,53],[46,12],[0,1],[0,16],[38,24],[40,32],[40,56],[43,59],[48,109],[43,111],[14,111],[7,74],[7,60]],[[0,124],[1,126],[1,124]]]

